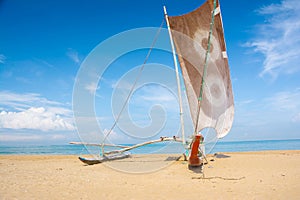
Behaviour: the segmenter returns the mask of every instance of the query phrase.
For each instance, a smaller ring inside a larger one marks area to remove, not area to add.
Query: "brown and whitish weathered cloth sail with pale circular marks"
[[[216,130],[217,137],[222,138],[231,129],[234,103],[219,2],[214,7],[213,0],[208,0],[188,14],[168,19],[196,131],[212,127]],[[210,30],[212,35],[208,43]],[[203,96],[200,100],[208,45],[210,51],[204,74]]]

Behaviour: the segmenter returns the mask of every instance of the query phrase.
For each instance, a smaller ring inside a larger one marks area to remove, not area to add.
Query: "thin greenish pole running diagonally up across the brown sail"
[[[206,53],[205,53],[205,61],[204,61],[204,69],[203,69],[203,75],[202,75],[202,80],[201,80],[200,94],[199,94],[199,97],[198,97],[197,119],[196,119],[194,134],[197,134],[197,129],[198,129],[198,121],[199,121],[199,116],[200,116],[201,101],[203,99],[203,87],[204,87],[204,83],[205,83],[205,76],[206,76],[206,73],[207,73],[208,56],[209,56],[210,45],[211,45],[210,40],[211,40],[212,31],[213,31],[214,22],[215,22],[216,4],[217,4],[217,2],[216,2],[216,0],[214,0],[214,9],[213,9],[213,12],[212,12],[211,22],[210,22],[210,30],[209,30],[208,41],[207,41],[207,50],[206,50]]]

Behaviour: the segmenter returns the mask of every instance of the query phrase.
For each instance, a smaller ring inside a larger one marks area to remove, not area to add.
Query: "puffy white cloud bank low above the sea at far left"
[[[39,94],[0,92],[0,129],[74,130],[72,111]]]

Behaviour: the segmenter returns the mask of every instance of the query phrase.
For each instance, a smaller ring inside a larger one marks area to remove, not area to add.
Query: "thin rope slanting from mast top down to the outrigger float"
[[[138,82],[138,80],[139,80],[139,78],[140,78],[140,76],[141,76],[141,74],[142,74],[142,71],[143,71],[143,69],[144,69],[144,67],[145,67],[145,64],[146,64],[146,62],[147,62],[148,59],[149,59],[150,53],[151,53],[152,49],[154,48],[154,45],[155,45],[155,43],[156,43],[156,41],[157,41],[157,39],[158,39],[158,35],[159,35],[159,33],[160,33],[160,31],[161,31],[163,25],[164,25],[164,20],[162,20],[161,25],[160,25],[159,29],[158,29],[157,32],[156,32],[156,35],[155,35],[154,40],[153,40],[153,42],[152,42],[152,44],[151,44],[151,47],[150,47],[150,49],[149,49],[149,51],[148,51],[148,54],[147,54],[147,56],[146,56],[146,58],[145,58],[145,60],[144,60],[144,62],[143,62],[143,64],[142,64],[142,67],[141,67],[140,70],[139,70],[139,73],[138,73],[138,75],[137,75],[137,77],[136,77],[136,79],[135,79],[135,81],[134,81],[134,83],[133,83],[133,85],[132,85],[132,87],[131,87],[129,93],[128,93],[128,96],[127,96],[127,98],[126,98],[126,100],[125,100],[125,102],[124,102],[124,104],[123,104],[123,106],[122,106],[122,108],[121,108],[121,110],[120,110],[120,113],[118,114],[118,116],[117,116],[117,118],[116,118],[114,124],[112,125],[112,127],[110,128],[110,130],[109,130],[108,133],[105,135],[105,137],[104,137],[104,139],[103,139],[103,141],[102,141],[102,145],[101,145],[102,155],[104,155],[104,143],[105,143],[105,140],[106,140],[107,137],[111,134],[112,130],[116,127],[116,125],[117,125],[117,123],[118,123],[118,121],[119,121],[119,119],[120,119],[120,117],[121,117],[121,114],[122,114],[122,112],[124,111],[124,109],[125,109],[125,107],[126,107],[128,101],[129,101],[129,98],[130,98],[130,96],[132,95],[132,93],[133,93],[133,91],[134,91],[134,88],[135,88],[135,86],[136,86],[136,84],[137,84],[137,82]]]

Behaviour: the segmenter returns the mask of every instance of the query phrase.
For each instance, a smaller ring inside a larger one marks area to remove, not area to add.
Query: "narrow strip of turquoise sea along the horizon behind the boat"
[[[88,151],[89,150],[89,151]],[[99,148],[86,149],[82,145],[46,145],[46,146],[0,146],[0,154],[23,155],[82,155],[89,152],[99,152]],[[206,153],[216,152],[249,152],[266,150],[300,150],[300,139],[297,140],[264,140],[264,141],[238,141],[218,142],[213,148],[206,147]],[[159,143],[144,146],[131,151],[133,154],[147,153],[181,153],[184,148],[181,144]]]

